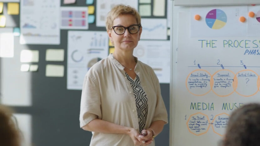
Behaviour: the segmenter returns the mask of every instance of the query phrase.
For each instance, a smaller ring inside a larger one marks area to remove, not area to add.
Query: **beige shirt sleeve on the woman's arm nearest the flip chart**
[[[168,115],[167,110],[164,104],[164,101],[161,96],[161,88],[160,83],[157,78],[157,76],[154,74],[154,80],[155,80],[155,87],[156,87],[156,107],[155,107],[155,113],[154,113],[154,121],[162,120],[168,123]]]

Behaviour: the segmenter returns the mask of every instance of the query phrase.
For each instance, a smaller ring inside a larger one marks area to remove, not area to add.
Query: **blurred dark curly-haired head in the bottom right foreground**
[[[259,103],[250,103],[235,110],[228,121],[223,146],[260,145],[259,121]]]

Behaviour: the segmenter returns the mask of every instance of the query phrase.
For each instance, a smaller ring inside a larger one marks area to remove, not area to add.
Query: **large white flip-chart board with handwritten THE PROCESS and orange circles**
[[[239,15],[233,15],[237,9]],[[219,25],[222,28],[214,31],[206,19],[212,10],[223,11],[227,16],[225,25],[222,22]],[[250,27],[254,24],[259,27],[260,22],[258,16],[247,17],[251,10],[257,14],[260,8],[173,7],[170,145],[217,146],[232,111],[243,104],[260,101],[260,35],[257,32],[254,36]],[[200,21],[194,19],[195,13],[201,13]],[[237,19],[241,15],[246,17],[245,23]],[[245,31],[244,36],[228,32],[240,27],[245,27],[241,29]],[[200,34],[197,29],[201,30]]]

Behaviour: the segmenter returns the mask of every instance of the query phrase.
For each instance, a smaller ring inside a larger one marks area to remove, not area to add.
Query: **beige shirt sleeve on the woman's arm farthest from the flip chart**
[[[92,76],[86,75],[80,101],[79,123],[81,128],[96,118],[102,118],[100,105],[99,83]]]

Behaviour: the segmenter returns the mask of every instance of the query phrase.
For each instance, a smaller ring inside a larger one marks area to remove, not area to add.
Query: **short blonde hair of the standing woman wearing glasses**
[[[113,21],[119,15],[130,14],[135,17],[137,24],[141,25],[141,17],[138,11],[131,6],[126,5],[116,5],[111,11],[107,14],[106,18],[106,30],[109,30],[113,26]]]

